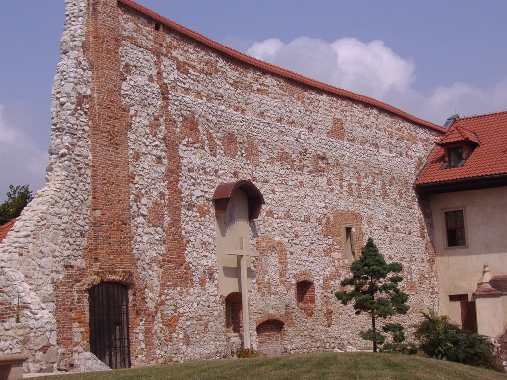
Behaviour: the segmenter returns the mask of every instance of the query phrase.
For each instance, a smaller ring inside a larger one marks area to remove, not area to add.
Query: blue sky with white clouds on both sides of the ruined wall
[[[507,2],[172,1],[139,4],[215,41],[442,125],[507,109]],[[63,0],[0,5],[0,202],[44,185]]]

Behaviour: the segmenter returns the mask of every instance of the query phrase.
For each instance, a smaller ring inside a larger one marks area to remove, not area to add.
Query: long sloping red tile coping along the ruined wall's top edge
[[[214,49],[214,50],[217,50],[221,53],[227,54],[228,56],[235,58],[241,62],[244,62],[250,66],[260,68],[261,70],[271,72],[275,75],[279,75],[280,77],[299,82],[299,83],[304,84],[306,86],[311,86],[311,87],[314,87],[314,88],[317,88],[317,89],[320,89],[320,90],[323,90],[326,92],[330,92],[330,93],[333,93],[336,95],[344,96],[344,97],[352,99],[352,100],[357,100],[362,103],[373,105],[373,106],[381,108],[385,111],[392,112],[397,116],[400,116],[404,119],[407,119],[413,123],[419,124],[419,125],[424,126],[426,128],[429,128],[429,129],[432,129],[432,130],[435,130],[438,132],[445,132],[445,129],[439,125],[419,119],[413,115],[410,115],[410,113],[402,111],[399,108],[393,107],[392,105],[386,104],[386,103],[381,102],[379,100],[370,98],[365,95],[360,95],[360,94],[357,94],[352,91],[343,90],[341,88],[334,87],[334,86],[316,81],[314,79],[304,77],[301,74],[298,74],[298,73],[286,70],[284,68],[260,61],[256,58],[252,58],[250,56],[247,56],[246,54],[240,53],[234,49],[228,48],[225,45],[222,45],[216,41],[213,41],[213,40],[209,39],[208,37],[206,37],[200,33],[197,33],[196,31],[194,31],[192,29],[189,29],[183,25],[179,25],[178,23],[176,23],[174,21],[168,20],[165,17],[159,15],[158,13],[155,13],[152,10],[145,8],[143,6],[140,6],[139,4],[136,4],[131,0],[118,0],[118,3],[123,4],[127,7],[130,7],[132,9],[136,10],[137,12],[160,22],[164,26],[166,26],[172,30],[175,30],[179,33],[182,33],[183,35],[185,35],[187,37],[190,37],[192,40],[198,41],[211,49]]]

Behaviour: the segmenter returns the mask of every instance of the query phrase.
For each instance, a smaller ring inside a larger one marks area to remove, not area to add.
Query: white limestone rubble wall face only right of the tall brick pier
[[[156,72],[153,25],[147,26],[132,15],[124,15],[122,22],[122,34],[129,37],[121,48],[122,67],[126,63],[129,67],[124,70],[122,97],[133,116],[130,156],[140,156],[130,161],[135,174],[131,189],[141,194],[141,210],[148,210],[159,201],[159,194],[167,195],[161,178],[167,160],[171,160],[163,142],[168,120],[159,110],[162,95],[160,84],[154,80],[160,73]],[[142,27],[146,29],[140,33]],[[139,35],[142,38],[137,40]],[[369,327],[369,319],[339,305],[333,294],[349,274],[340,247],[329,252],[333,242],[324,232],[327,220],[337,210],[360,213],[363,243],[372,236],[388,261],[404,264],[402,275],[412,309],[398,320],[410,326],[419,320],[420,310],[438,302],[436,272],[426,249],[428,234],[412,183],[439,133],[317,90],[291,98],[284,80],[231,63],[170,31],[163,46],[161,69],[169,89],[167,110],[176,126],[171,133],[181,138],[178,187],[183,200],[185,257],[193,286],[175,289],[167,297],[173,302],[160,307],[161,314],[179,316],[172,332],[173,343],[165,350],[160,345],[161,359],[167,355],[180,361],[227,354],[218,276],[206,279],[204,286],[199,281],[209,269],[218,273],[211,197],[218,184],[231,180],[252,180],[266,200],[260,218],[250,223],[250,250],[266,244],[263,239],[267,237],[277,245],[273,257],[266,257],[266,278],[273,282],[276,295],[262,295],[262,284],[256,282],[250,294],[254,346],[256,321],[267,315],[285,319],[287,352],[369,345],[357,336],[360,329]],[[182,64],[187,67],[182,69]],[[238,83],[248,84],[250,90],[245,91]],[[148,123],[156,117],[160,127],[150,133]],[[343,124],[345,141],[328,137],[335,119]],[[186,131],[188,120],[197,122],[191,137]],[[226,146],[231,134],[237,145],[232,156]],[[257,158],[252,158],[252,147]],[[285,159],[279,158],[280,152]],[[156,160],[159,155],[161,162]],[[203,213],[203,209],[207,211]],[[163,242],[165,236],[163,229],[150,227],[148,218],[148,212],[143,215],[141,211],[133,226],[137,241],[134,252],[141,255],[142,251],[146,260],[161,254],[163,248],[156,242]],[[143,244],[143,240],[150,243]],[[283,263],[280,247],[286,252]],[[294,277],[304,269],[311,273],[316,287],[311,318],[297,308],[294,295]],[[152,273],[157,273],[156,266]],[[412,284],[409,290],[408,282]],[[147,289],[147,297],[157,298],[155,283]],[[331,326],[327,325],[329,313]]]

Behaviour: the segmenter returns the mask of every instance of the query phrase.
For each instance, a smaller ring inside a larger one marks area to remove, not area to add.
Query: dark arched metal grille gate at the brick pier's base
[[[130,367],[128,288],[101,282],[89,296],[90,351],[111,368]]]

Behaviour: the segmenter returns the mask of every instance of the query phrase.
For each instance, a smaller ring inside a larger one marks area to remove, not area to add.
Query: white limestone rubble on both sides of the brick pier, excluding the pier
[[[58,366],[62,349],[56,336],[55,292],[65,268],[85,265],[82,252],[91,213],[87,113],[93,89],[83,52],[85,33],[91,32],[88,2],[66,4],[52,95],[47,184],[0,245],[0,287],[5,290],[0,302],[17,305],[19,291],[20,304],[27,306],[20,323],[0,323],[0,353],[29,353],[30,371]],[[149,327],[140,320],[131,333],[138,348],[132,352],[134,364],[143,364],[151,333],[159,362],[228,355],[211,197],[218,184],[231,180],[252,180],[266,200],[260,218],[250,222],[250,250],[266,247],[269,252],[253,263],[249,308],[254,346],[256,321],[270,315],[284,320],[283,349],[289,353],[365,346],[357,332],[369,321],[354,316],[333,295],[348,267],[342,247],[327,231],[333,230],[336,212],[343,210],[361,215],[364,242],[372,236],[388,260],[404,264],[406,283],[412,284],[407,285],[412,310],[401,321],[415,323],[418,311],[436,302],[438,290],[412,183],[438,133],[375,107],[301,89],[171,31],[157,51],[153,23],[136,17],[121,16],[125,41],[119,69],[125,78],[122,101],[131,117],[135,278],[144,285],[141,298],[155,324]],[[156,53],[161,53],[160,62]],[[169,92],[167,100],[161,84]],[[197,122],[192,131],[185,125],[188,120]],[[337,121],[343,140],[328,137]],[[168,133],[180,139],[177,157],[167,150]],[[176,159],[180,230],[191,281],[161,294],[161,257],[169,250],[171,223],[166,174]],[[159,217],[153,212],[157,207],[163,210]],[[264,268],[266,274],[261,273]],[[315,282],[312,317],[296,306],[295,276],[302,270]],[[271,293],[265,294],[268,283]],[[76,347],[83,350],[84,332],[74,333]],[[76,363],[82,356],[75,352]]]

